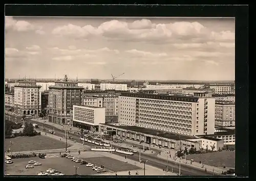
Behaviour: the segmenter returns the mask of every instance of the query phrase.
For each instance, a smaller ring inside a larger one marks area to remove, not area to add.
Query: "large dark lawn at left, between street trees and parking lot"
[[[72,146],[72,145],[69,145],[69,146]],[[34,136],[34,137],[16,137],[16,138],[5,139],[5,151],[7,151],[8,149],[11,149],[12,152],[59,149],[59,148],[65,148],[65,147],[66,147],[65,142],[52,139],[44,135]]]

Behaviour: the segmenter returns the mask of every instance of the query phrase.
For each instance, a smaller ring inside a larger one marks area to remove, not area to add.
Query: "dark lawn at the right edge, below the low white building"
[[[220,151],[202,154],[189,154],[187,159],[194,159],[195,162],[201,161],[203,164],[215,167],[223,167],[225,165],[226,167],[234,168],[234,156],[234,151]]]

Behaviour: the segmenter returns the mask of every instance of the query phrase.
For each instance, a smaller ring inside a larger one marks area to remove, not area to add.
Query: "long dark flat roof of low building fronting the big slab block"
[[[122,128],[124,130],[130,130],[130,131],[139,132],[139,133],[143,133],[143,134],[158,136],[158,137],[162,137],[162,138],[173,139],[173,140],[186,140],[186,139],[196,138],[193,136],[173,134],[170,132],[163,132],[160,130],[153,130],[150,128],[139,127],[139,126],[121,126],[121,125],[113,125],[113,124],[107,124],[107,123],[105,125],[118,127],[118,128]]]

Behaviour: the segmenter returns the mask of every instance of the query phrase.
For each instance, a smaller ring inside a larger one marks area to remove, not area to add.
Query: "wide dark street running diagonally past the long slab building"
[[[7,118],[9,118],[8,115],[6,115]],[[14,120],[15,116],[11,116]],[[17,116],[16,120],[17,122],[21,122],[23,123],[23,121],[21,120],[22,116]],[[46,129],[46,132],[49,133],[49,130],[53,130],[53,126],[45,124],[45,123],[41,123],[41,122],[37,122],[37,121],[33,121],[29,118],[26,119],[26,121],[31,122],[31,123],[37,123],[40,129],[40,126],[42,125],[43,128]],[[64,131],[59,130],[58,128],[54,128],[55,131],[55,135],[59,136],[59,137],[65,137],[65,133]],[[50,134],[50,133],[49,133]],[[80,140],[80,136],[79,135],[75,135],[73,133],[69,134],[70,136],[73,137],[74,140],[76,140],[78,143],[82,143],[82,141]],[[92,143],[88,143],[88,142],[84,142],[84,144],[88,145],[88,146],[95,146]],[[115,147],[119,147],[117,145],[115,145]],[[116,153],[114,152],[114,154],[118,154],[119,156],[123,156],[124,154],[122,153]],[[139,161],[139,153],[135,153],[133,156],[126,156],[127,159],[131,159],[134,161]],[[145,153],[141,153],[141,160],[148,160],[147,165],[151,165],[160,169],[165,168],[166,166],[168,166],[168,169],[170,169],[170,171],[172,171],[173,168],[173,172],[175,173],[179,173],[179,162],[174,163],[174,161],[168,161],[167,164],[167,159],[161,159],[158,158],[156,155],[149,155],[149,154],[145,154]],[[182,175],[212,175],[211,173],[205,172],[203,170],[194,168],[194,167],[190,167],[190,166],[186,166],[186,165],[181,165],[181,174]]]

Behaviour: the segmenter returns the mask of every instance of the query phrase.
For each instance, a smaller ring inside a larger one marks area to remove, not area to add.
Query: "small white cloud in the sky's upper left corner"
[[[27,31],[35,31],[38,34],[43,34],[40,30],[40,27],[31,24],[28,21],[24,20],[15,20],[11,16],[5,17],[5,28],[7,31],[13,30],[18,32],[27,32]]]

